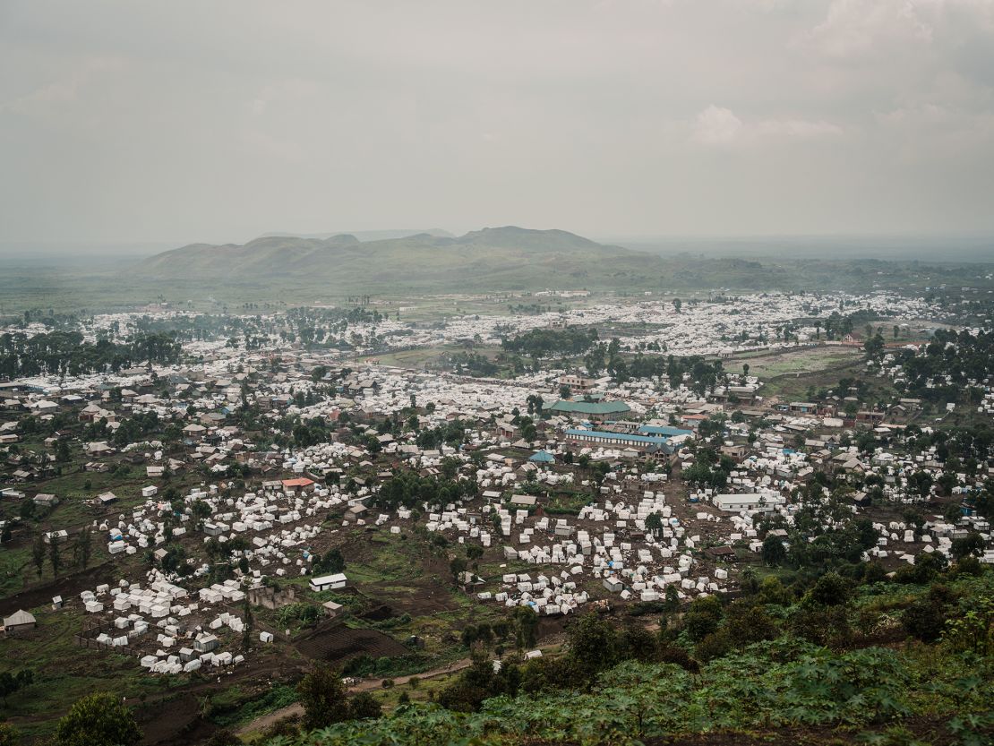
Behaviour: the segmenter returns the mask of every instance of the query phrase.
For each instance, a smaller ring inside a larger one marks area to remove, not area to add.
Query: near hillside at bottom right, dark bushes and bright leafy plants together
[[[656,637],[584,615],[561,655],[495,672],[477,647],[436,703],[403,698],[385,717],[290,727],[267,744],[634,746],[796,731],[819,744],[980,746],[994,733],[994,572],[969,559],[944,573],[933,564],[905,583],[769,578],[724,608],[703,597],[679,621],[664,616]]]

